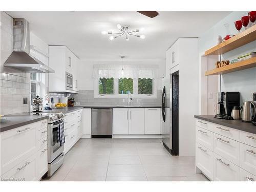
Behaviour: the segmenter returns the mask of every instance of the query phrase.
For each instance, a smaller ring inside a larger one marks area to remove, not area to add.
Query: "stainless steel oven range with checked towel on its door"
[[[58,142],[58,126],[63,122],[64,116],[63,113],[55,113],[48,118],[48,177],[51,177],[64,162],[64,147]]]

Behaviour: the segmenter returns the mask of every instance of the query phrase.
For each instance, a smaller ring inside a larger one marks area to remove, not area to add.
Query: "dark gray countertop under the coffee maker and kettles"
[[[195,115],[195,118],[220,124],[223,126],[228,126],[236,130],[241,130],[241,131],[256,134],[256,126],[251,124],[250,122],[242,122],[240,120],[217,119],[217,118],[214,118],[213,115]]]

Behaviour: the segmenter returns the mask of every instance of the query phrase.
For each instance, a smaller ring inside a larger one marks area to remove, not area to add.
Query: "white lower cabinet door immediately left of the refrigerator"
[[[161,109],[145,109],[145,134],[161,134]]]

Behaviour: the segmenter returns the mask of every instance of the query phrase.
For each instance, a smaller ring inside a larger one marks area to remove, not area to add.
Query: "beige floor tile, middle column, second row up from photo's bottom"
[[[142,165],[109,165],[108,177],[144,177]]]

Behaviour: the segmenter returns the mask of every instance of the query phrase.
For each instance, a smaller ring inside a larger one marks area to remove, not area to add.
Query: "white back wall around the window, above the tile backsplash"
[[[80,59],[78,65],[78,89],[94,90],[93,65],[158,65],[159,80],[158,89],[161,88],[162,78],[165,74],[165,60],[162,59]]]

